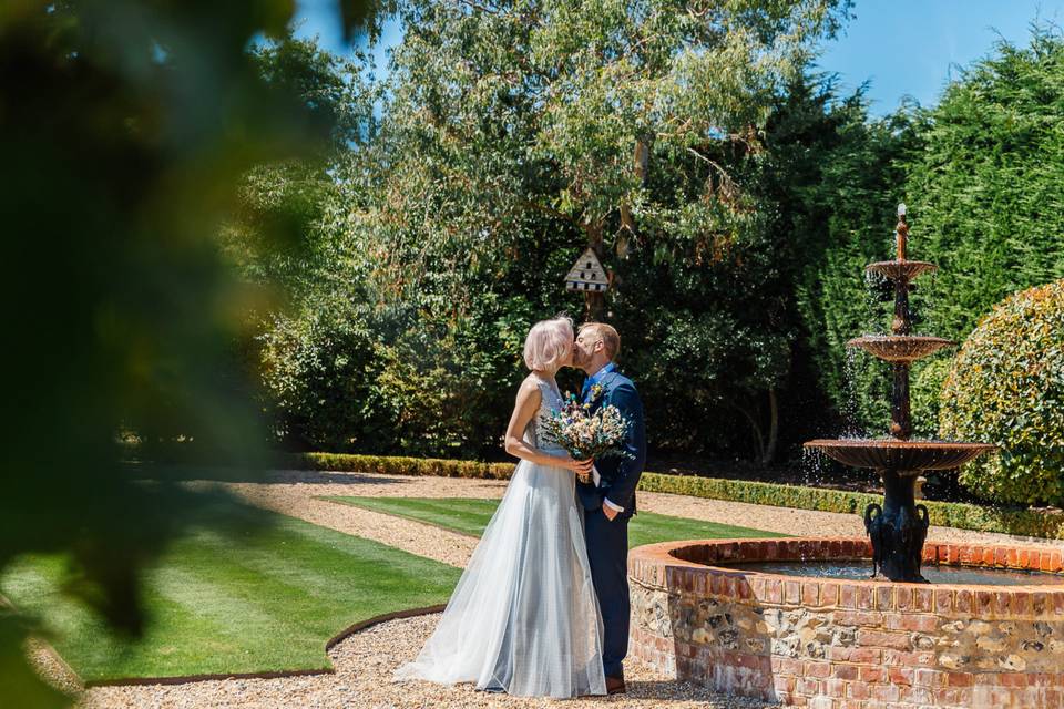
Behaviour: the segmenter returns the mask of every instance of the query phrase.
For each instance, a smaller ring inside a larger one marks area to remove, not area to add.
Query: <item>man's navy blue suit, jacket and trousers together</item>
[[[624,449],[632,458],[610,456],[595,461],[601,483],[576,482],[576,495],[584,507],[584,530],[587,535],[587,561],[591,578],[602,610],[602,664],[607,677],[621,677],[621,664],[628,651],[628,520],[635,514],[635,487],[646,463],[646,425],[643,422],[643,402],[635,384],[617,371],[605,374],[598,382],[602,395],[592,402],[592,411],[613,404],[632,422]],[[611,522],[602,512],[602,501],[624,507]]]

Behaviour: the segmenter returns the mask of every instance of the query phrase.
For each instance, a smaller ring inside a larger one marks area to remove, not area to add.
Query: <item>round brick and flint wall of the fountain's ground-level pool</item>
[[[871,554],[867,540],[850,537],[637,547],[628,557],[630,654],[681,680],[791,706],[1061,706],[1061,547],[923,548],[925,567],[1061,575],[1052,585],[924,585],[728,566]]]

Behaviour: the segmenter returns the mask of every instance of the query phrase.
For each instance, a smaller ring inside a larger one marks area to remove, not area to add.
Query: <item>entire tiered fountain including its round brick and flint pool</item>
[[[906,258],[908,237],[902,206],[898,258],[868,267],[893,281],[891,333],[850,341],[893,366],[890,438],[806,444],[879,471],[886,494],[864,511],[867,536],[633,549],[632,656],[784,705],[1064,708],[1064,549],[925,542],[915,477],[993,446],[910,440],[909,367],[951,342],[912,335],[910,282],[934,266]]]

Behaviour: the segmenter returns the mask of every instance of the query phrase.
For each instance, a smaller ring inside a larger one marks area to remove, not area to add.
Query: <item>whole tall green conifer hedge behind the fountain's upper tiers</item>
[[[785,214],[796,236],[817,236],[798,282],[809,350],[825,393],[859,429],[879,434],[888,418],[888,377],[864,356],[848,367],[845,342],[889,323],[861,271],[893,256],[892,203],[910,207],[910,257],[939,266],[915,284],[919,333],[963,340],[1009,294],[1064,277],[1062,75],[1064,39],[1039,25],[1026,47],[1001,42],[965,69],[933,109],[843,122],[835,132],[847,140],[815,145],[809,158],[819,182],[790,173],[800,199]],[[914,387],[933,386],[913,373]],[[925,403],[917,425],[930,433],[938,401]]]

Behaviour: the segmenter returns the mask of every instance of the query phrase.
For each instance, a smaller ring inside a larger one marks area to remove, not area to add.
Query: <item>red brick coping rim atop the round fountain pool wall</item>
[[[871,558],[860,537],[697,540],[636,547],[628,555],[630,578],[648,589],[687,592],[769,604],[855,610],[972,613],[979,616],[1064,614],[1060,586],[1031,584],[909,584],[769,574],[716,564],[758,561]],[[942,544],[923,548],[925,564],[1039,571],[1064,575],[1064,549],[1027,544]]]

